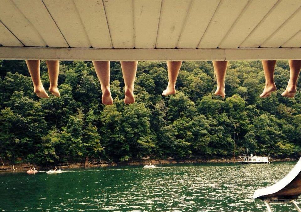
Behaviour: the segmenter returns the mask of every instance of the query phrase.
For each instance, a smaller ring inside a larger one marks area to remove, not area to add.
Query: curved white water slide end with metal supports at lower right
[[[301,158],[296,166],[282,180],[267,188],[255,191],[253,198],[263,200],[269,212],[272,212],[270,203],[292,203],[298,212],[301,209],[295,203],[301,194]]]

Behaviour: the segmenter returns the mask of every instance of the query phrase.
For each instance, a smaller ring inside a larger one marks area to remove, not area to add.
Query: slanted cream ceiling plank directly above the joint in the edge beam
[[[237,48],[259,24],[278,0],[252,0],[232,29],[224,37],[219,48]]]

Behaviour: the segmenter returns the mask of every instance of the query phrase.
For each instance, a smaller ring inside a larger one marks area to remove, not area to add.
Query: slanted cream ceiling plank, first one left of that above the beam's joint
[[[247,0],[222,0],[199,42],[198,48],[218,47],[247,3]]]

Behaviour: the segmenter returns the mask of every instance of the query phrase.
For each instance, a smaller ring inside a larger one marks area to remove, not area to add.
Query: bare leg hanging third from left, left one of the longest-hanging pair
[[[103,93],[102,102],[104,105],[112,105],[113,98],[110,90],[110,62],[93,61],[93,66],[100,82],[101,91]]]

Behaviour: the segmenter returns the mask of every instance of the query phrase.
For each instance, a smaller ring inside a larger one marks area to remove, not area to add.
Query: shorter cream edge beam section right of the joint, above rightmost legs
[[[226,60],[301,60],[301,48],[225,49]]]

